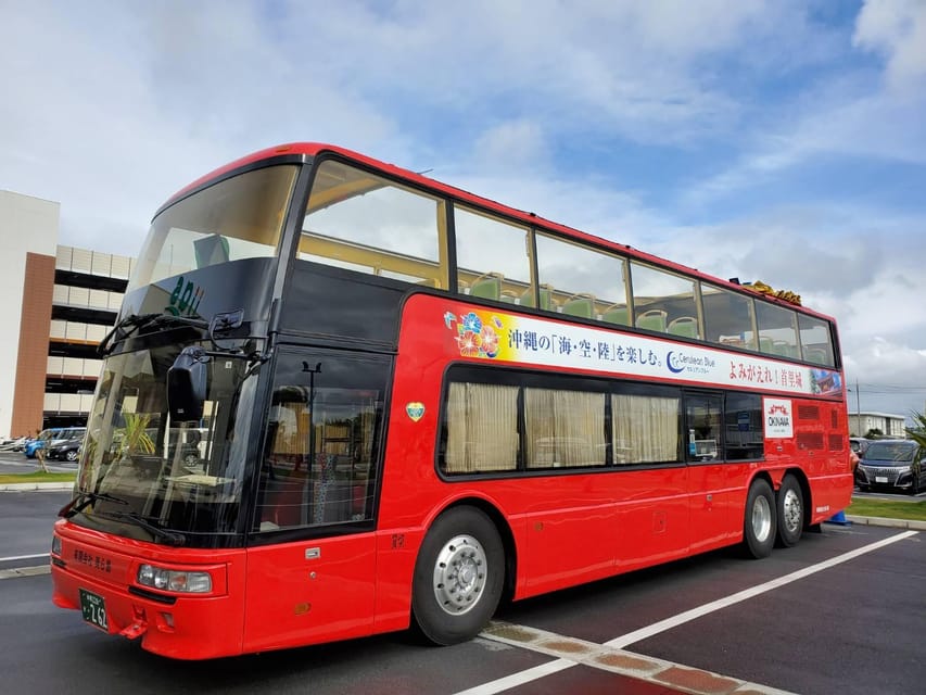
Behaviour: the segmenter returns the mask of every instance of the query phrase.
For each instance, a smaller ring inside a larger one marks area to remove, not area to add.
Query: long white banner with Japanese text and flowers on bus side
[[[462,357],[788,394],[842,394],[841,375],[833,369],[674,342],[669,337],[618,333],[464,305],[447,307],[443,323],[451,349]]]

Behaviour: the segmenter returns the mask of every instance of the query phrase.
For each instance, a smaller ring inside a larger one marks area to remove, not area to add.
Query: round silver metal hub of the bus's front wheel
[[[485,586],[489,569],[485,551],[471,535],[451,539],[434,565],[434,597],[452,616],[460,616],[475,606]]]

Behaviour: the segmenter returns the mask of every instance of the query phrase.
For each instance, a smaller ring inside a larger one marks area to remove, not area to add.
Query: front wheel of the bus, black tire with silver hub
[[[495,614],[505,580],[505,548],[492,520],[456,507],[434,521],[418,551],[411,612],[440,645],[471,640]]]

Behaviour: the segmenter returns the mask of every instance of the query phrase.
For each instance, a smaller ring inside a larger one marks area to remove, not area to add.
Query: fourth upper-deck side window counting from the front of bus
[[[637,328],[686,338],[701,334],[693,279],[631,262],[631,283]]]

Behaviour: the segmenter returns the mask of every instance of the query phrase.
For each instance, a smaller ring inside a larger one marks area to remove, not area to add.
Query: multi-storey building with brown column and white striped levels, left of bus
[[[134,261],[58,244],[59,203],[0,191],[0,434],[84,425]]]

